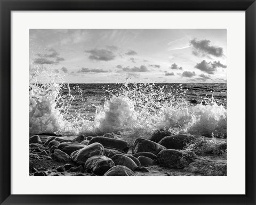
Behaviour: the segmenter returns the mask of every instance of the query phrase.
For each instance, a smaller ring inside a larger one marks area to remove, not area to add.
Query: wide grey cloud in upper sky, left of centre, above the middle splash
[[[85,52],[91,54],[89,59],[96,61],[112,61],[116,58],[115,54],[107,49],[92,49]]]

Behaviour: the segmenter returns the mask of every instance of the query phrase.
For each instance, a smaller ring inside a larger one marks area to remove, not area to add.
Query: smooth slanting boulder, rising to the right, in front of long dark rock
[[[92,143],[83,149],[79,149],[71,153],[71,159],[79,164],[83,165],[87,159],[95,155],[104,155],[104,147],[100,143]]]

